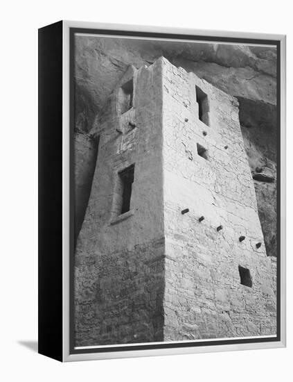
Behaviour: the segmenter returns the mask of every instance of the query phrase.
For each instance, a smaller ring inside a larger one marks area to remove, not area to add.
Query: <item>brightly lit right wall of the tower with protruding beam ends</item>
[[[199,120],[196,85],[208,96],[209,126]],[[167,60],[163,176],[164,340],[276,334],[276,264],[265,253],[238,101]],[[251,288],[240,283],[239,265]]]

